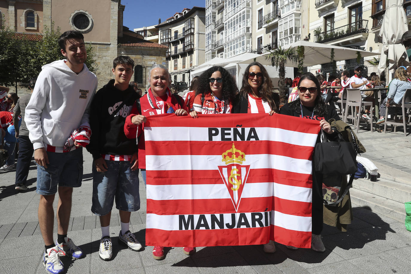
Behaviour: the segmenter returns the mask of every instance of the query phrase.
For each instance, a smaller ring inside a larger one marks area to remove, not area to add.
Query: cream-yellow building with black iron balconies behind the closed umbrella
[[[357,63],[356,59],[337,62],[337,71],[332,71],[331,64],[319,64],[311,67],[313,73],[337,74],[347,69],[351,76],[353,68],[357,64],[365,65],[364,76],[371,72],[377,72],[377,66],[369,64],[367,60],[374,57],[379,60],[379,37],[382,19],[385,13],[385,5],[388,0],[316,0],[309,1],[309,33],[310,41],[358,48],[374,52],[376,55],[362,58]],[[411,1],[404,3],[404,10],[408,19],[411,19]],[[411,46],[411,34],[404,35],[404,45]]]

